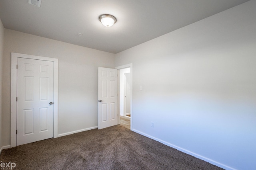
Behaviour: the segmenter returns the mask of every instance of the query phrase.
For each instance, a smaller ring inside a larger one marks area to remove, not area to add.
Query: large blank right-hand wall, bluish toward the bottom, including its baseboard
[[[254,169],[255,9],[252,0],[116,54],[116,66],[132,63],[133,131]]]

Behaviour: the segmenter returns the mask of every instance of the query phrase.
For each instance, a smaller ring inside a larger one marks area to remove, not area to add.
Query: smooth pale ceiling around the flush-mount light
[[[0,18],[8,29],[116,54],[246,1],[0,0]],[[101,14],[117,22],[105,27]]]

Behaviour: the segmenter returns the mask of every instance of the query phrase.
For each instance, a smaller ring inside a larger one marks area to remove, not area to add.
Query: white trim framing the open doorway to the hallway
[[[131,75],[131,79],[130,79],[130,83],[131,83],[131,94],[130,94],[130,98],[131,98],[131,101],[130,101],[130,107],[131,107],[131,118],[130,118],[130,130],[131,131],[134,131],[133,130],[133,109],[132,109],[132,63],[130,64],[126,64],[126,65],[122,65],[122,66],[117,66],[116,69],[118,70],[118,125],[120,124],[120,69],[123,69],[123,68],[128,68],[130,67],[130,75]]]

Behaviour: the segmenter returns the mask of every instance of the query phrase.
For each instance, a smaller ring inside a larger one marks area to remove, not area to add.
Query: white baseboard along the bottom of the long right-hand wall
[[[155,141],[158,141],[158,142],[160,142],[160,143],[162,143],[162,144],[164,144],[164,145],[167,145],[167,146],[169,146],[169,147],[172,147],[172,148],[174,148],[174,149],[180,150],[181,152],[184,152],[184,153],[190,154],[190,155],[192,155],[192,156],[194,156],[194,157],[196,157],[196,158],[202,159],[202,160],[204,160],[204,161],[206,161],[206,162],[209,162],[210,164],[214,164],[214,165],[216,165],[216,166],[219,166],[220,168],[224,168],[224,169],[226,169],[226,170],[236,170],[236,169],[234,169],[234,168],[232,168],[232,167],[230,167],[230,166],[224,165],[224,164],[222,164],[222,163],[220,163],[220,162],[217,162],[217,161],[215,161],[215,160],[212,160],[212,159],[210,159],[210,158],[206,158],[206,157],[204,157],[204,156],[201,156],[201,155],[196,154],[196,153],[194,153],[194,152],[191,152],[191,151],[189,151],[189,150],[183,149],[183,148],[178,147],[178,146],[176,146],[176,145],[172,145],[171,143],[168,143],[168,142],[163,141],[163,140],[161,140],[161,139],[152,137],[152,136],[150,136],[150,135],[148,135],[148,134],[146,134],[146,133],[143,133],[143,132],[141,132],[141,131],[137,131],[136,129],[132,129],[132,131],[134,131],[134,132],[136,132],[136,133],[139,133],[140,135],[146,136],[146,137],[148,137],[148,138],[150,138],[150,139],[154,139]]]

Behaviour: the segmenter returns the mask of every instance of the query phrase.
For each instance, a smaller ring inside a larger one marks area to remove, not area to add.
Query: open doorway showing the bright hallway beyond
[[[132,71],[131,65],[118,69],[118,112],[120,125],[132,129]]]

